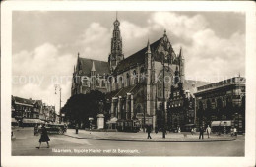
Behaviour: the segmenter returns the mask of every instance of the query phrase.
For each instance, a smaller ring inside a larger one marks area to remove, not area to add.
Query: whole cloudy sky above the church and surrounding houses
[[[15,11],[12,94],[59,109],[71,95],[77,54],[107,61],[116,12]],[[185,57],[185,77],[218,82],[245,76],[245,15],[234,12],[118,12],[125,57],[162,37]],[[62,80],[61,80],[62,79]]]

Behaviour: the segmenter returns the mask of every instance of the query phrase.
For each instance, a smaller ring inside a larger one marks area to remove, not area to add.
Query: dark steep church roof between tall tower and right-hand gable
[[[157,49],[157,47],[160,45],[159,40],[155,41],[150,45],[152,53]],[[125,58],[122,60],[116,67],[115,72],[125,71],[129,67],[135,66],[138,64],[143,64],[145,62],[145,53],[147,52],[147,46],[145,46],[143,49],[139,50],[138,52],[132,54],[131,56]]]

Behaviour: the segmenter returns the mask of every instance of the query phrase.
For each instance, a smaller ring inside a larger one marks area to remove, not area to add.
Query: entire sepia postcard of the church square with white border
[[[51,165],[65,166],[73,157],[200,157],[191,166],[210,166],[207,158],[225,157],[255,165],[250,3],[220,11],[70,4],[9,11],[1,122],[10,159],[58,156],[63,165]]]

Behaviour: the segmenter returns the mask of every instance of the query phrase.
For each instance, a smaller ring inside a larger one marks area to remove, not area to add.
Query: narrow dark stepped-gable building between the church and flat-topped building
[[[180,53],[181,57],[182,53]],[[182,58],[183,59],[183,58]],[[205,82],[182,80],[182,69],[176,66],[174,82],[171,85],[167,104],[167,128],[176,131],[190,131],[195,126],[195,97],[197,86]],[[161,120],[160,120],[161,121]]]

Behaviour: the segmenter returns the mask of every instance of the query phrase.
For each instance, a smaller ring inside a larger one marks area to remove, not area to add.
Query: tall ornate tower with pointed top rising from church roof
[[[111,39],[111,53],[108,57],[108,63],[109,67],[111,68],[111,72],[114,71],[118,63],[124,59],[123,51],[122,51],[122,37],[120,33],[120,22],[117,20],[117,14],[116,14],[116,20],[113,23],[114,30],[113,30],[113,36]]]

